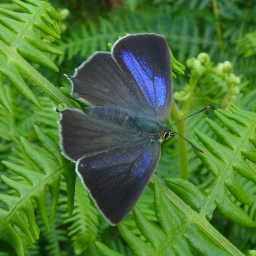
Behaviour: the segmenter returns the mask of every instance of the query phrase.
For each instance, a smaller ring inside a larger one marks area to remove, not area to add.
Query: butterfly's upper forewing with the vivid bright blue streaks
[[[170,55],[165,38],[156,34],[128,35],[116,42],[112,55],[155,115],[165,121],[172,105]]]

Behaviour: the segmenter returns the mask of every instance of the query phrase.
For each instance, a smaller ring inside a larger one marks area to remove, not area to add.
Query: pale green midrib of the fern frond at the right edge
[[[232,172],[233,170],[233,163],[237,160],[237,157],[239,154],[242,154],[241,151],[243,149],[243,146],[246,144],[246,141],[249,141],[249,137],[250,135],[254,135],[254,129],[255,129],[255,126],[256,126],[256,119],[254,120],[251,120],[253,121],[252,122],[252,125],[250,127],[248,127],[248,132],[246,133],[247,136],[245,136],[245,134],[243,135],[243,137],[240,137],[240,141],[241,143],[237,144],[237,147],[235,148],[235,150],[231,150],[230,148],[229,151],[232,154],[232,158],[229,157],[228,158],[228,161],[227,163],[225,164],[225,168],[224,170],[220,170],[220,173],[221,175],[216,177],[216,185],[214,185],[214,187],[212,187],[211,189],[211,193],[210,195],[207,197],[206,201],[205,201],[205,204],[204,206],[202,207],[201,211],[200,211],[200,214],[202,216],[206,216],[209,212],[213,211],[214,208],[216,207],[216,204],[215,204],[215,199],[218,197],[219,195],[219,191],[220,191],[220,187],[222,186],[225,186],[225,181],[226,179],[229,177],[229,173]],[[238,137],[238,136],[237,136]],[[239,138],[239,137],[238,137]],[[226,147],[226,145],[223,145],[223,147]],[[222,161],[222,160],[220,160]],[[228,189],[228,188],[227,188]]]

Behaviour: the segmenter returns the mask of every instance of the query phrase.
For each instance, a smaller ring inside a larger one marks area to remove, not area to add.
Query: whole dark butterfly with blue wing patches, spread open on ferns
[[[172,106],[166,39],[130,34],[95,52],[70,77],[71,94],[89,106],[60,111],[63,155],[112,225],[132,210],[158,165]]]

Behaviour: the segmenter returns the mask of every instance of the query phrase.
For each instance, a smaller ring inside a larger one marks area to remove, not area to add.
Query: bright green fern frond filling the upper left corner
[[[28,61],[58,71],[48,54],[61,54],[49,42],[59,38],[59,29],[56,23],[56,13],[53,7],[44,1],[13,0],[24,12],[15,12],[0,8],[0,73],[6,77],[16,90],[38,108],[41,105],[27,86],[24,77],[37,89],[41,90],[57,103],[69,102],[49,82],[41,76]],[[3,82],[0,82],[3,90]],[[60,99],[64,99],[62,101]],[[11,105],[3,90],[0,94],[0,103],[11,113]]]

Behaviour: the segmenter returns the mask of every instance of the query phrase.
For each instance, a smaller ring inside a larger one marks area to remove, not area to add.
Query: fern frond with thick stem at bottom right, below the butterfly
[[[206,219],[185,206],[156,178],[154,191],[159,225],[148,221],[139,209],[133,209],[137,227],[146,241],[135,236],[124,224],[118,225],[121,236],[135,255],[194,255],[195,251],[204,255],[242,255]]]

